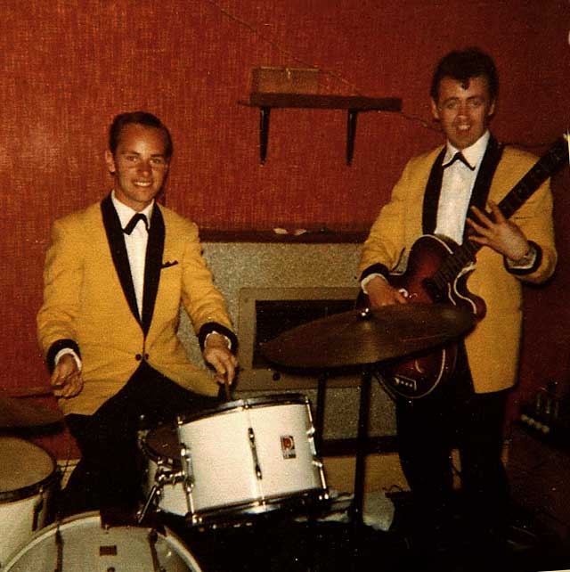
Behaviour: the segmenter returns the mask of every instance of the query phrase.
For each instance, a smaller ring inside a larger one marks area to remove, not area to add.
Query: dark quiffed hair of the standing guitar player
[[[499,76],[493,58],[476,47],[448,53],[437,64],[429,94],[436,102],[439,85],[444,78],[456,79],[467,84],[469,78],[481,76],[486,78],[491,100],[495,101],[499,94]]]

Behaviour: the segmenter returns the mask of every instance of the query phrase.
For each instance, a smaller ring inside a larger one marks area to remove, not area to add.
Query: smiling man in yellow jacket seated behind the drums
[[[141,473],[137,431],[216,404],[237,359],[224,298],[201,256],[198,227],[156,199],[173,144],[144,111],[114,118],[105,161],[112,190],[57,220],[45,258],[38,338],[81,460],[61,516],[134,511]],[[210,375],[176,336],[180,304]]]

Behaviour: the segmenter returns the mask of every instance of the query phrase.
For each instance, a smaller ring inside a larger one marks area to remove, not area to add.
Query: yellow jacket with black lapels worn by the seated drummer
[[[233,341],[222,294],[201,256],[198,227],[155,205],[139,318],[125,241],[110,197],[53,225],[37,315],[46,362],[62,347],[80,352],[85,387],[61,399],[63,413],[92,414],[129,380],[142,359],[184,388],[215,395],[216,381],[191,364],[176,335],[180,305],[200,341],[216,330]]]

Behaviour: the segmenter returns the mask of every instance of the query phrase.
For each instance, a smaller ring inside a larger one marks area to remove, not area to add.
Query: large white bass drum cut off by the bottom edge
[[[99,512],[55,522],[12,554],[3,572],[201,572],[191,553],[166,527],[102,524]]]

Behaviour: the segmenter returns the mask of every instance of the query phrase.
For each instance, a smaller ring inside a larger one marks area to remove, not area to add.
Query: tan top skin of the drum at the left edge
[[[37,490],[55,471],[51,454],[17,437],[0,437],[0,459],[0,502]]]

